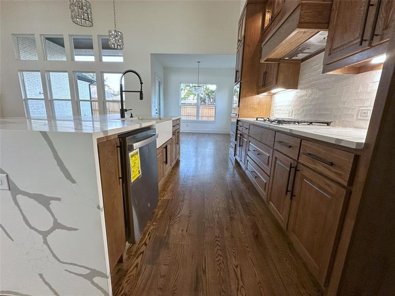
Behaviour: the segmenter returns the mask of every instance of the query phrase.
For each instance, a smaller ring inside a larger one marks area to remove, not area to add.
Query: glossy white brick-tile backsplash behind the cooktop
[[[372,107],[381,70],[356,75],[322,74],[324,53],[302,63],[297,90],[273,96],[272,117],[332,120],[332,125],[366,129],[359,108]]]

